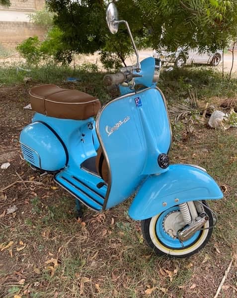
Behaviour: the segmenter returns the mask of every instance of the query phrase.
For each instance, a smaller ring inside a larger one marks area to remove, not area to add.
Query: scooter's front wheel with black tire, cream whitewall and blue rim
[[[206,203],[205,205],[207,206]],[[178,206],[171,207],[157,216],[143,220],[141,223],[143,236],[149,246],[158,254],[176,258],[189,257],[202,249],[212,234],[213,216],[209,209],[204,207],[204,210],[209,217],[209,220],[203,226],[204,229],[196,231],[182,243],[176,236],[178,230],[185,226]]]

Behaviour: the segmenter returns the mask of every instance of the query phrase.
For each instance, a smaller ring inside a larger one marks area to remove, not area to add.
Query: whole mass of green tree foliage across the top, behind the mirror
[[[123,24],[116,36],[105,22],[107,1],[46,0],[55,12],[54,23],[62,31],[62,42],[76,53],[101,51],[107,69],[117,67],[131,52],[131,42]],[[226,0],[118,0],[120,19],[129,22],[140,47],[223,49],[237,37],[237,2]],[[110,54],[111,53],[111,54]]]

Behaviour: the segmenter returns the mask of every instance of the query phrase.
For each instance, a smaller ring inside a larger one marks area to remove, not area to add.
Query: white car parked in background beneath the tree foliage
[[[202,53],[199,54],[197,49],[183,51],[182,48],[178,48],[176,52],[167,52],[160,50],[153,51],[153,57],[158,58],[161,62],[174,63],[178,68],[185,64],[207,64],[210,66],[218,66],[222,60],[222,51],[215,53]]]

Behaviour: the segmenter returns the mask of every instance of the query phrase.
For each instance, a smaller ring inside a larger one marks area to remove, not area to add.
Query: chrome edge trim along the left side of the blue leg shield
[[[104,106],[102,106],[102,108],[99,110],[99,112],[96,115],[96,119],[95,119],[95,131],[96,131],[96,135],[97,135],[98,140],[99,140],[99,144],[100,144],[100,146],[102,148],[102,151],[103,151],[103,154],[104,154],[104,158],[105,158],[105,160],[107,162],[107,165],[108,165],[108,187],[107,187],[106,195],[105,195],[105,198],[104,198],[104,204],[103,204],[102,210],[105,210],[105,208],[106,208],[106,205],[107,205],[107,202],[108,202],[108,198],[109,198],[110,189],[111,189],[111,167],[110,167],[110,163],[109,163],[107,152],[105,151],[105,148],[104,148],[102,139],[101,139],[100,134],[99,134],[99,118],[100,118],[100,115],[103,112],[103,110],[109,104],[111,104],[112,102],[117,101],[119,99],[123,99],[125,97],[132,96],[132,95],[136,95],[136,92],[132,92],[132,93],[128,93],[128,94],[122,95],[120,97],[117,97],[117,98],[115,98],[115,99],[107,102]]]

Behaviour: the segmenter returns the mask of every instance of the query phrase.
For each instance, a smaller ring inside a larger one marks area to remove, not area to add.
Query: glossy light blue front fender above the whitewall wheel
[[[134,220],[145,220],[184,202],[222,198],[219,186],[206,172],[195,166],[174,164],[144,182],[128,214]]]

